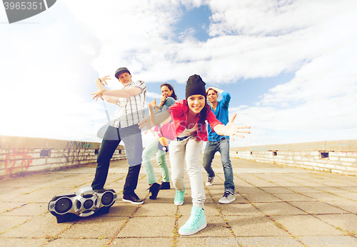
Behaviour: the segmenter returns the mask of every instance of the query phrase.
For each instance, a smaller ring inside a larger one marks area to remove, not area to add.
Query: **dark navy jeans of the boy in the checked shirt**
[[[124,141],[126,158],[129,163],[129,172],[126,184],[124,185],[123,193],[128,194],[134,192],[141,166],[141,153],[143,151],[141,131],[139,130],[137,124],[126,128],[121,128],[120,126],[119,128],[112,126],[107,128],[103,141],[101,141],[101,149],[99,150],[98,157],[96,159],[98,165],[96,166],[96,176],[91,184],[93,189],[104,188],[106,177],[108,176],[111,157],[121,140]],[[134,169],[134,166],[137,167]]]

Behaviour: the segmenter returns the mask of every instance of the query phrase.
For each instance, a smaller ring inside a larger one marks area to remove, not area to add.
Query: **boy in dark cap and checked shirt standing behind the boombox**
[[[130,71],[125,67],[121,67],[116,70],[115,77],[123,84],[124,89],[107,90],[104,88],[104,82],[106,83],[106,80],[110,80],[108,77],[104,76],[96,79],[98,91],[91,95],[94,95],[93,99],[97,100],[100,97],[109,103],[117,104],[118,109],[101,142],[101,149],[97,158],[96,176],[91,186],[94,190],[104,188],[109,171],[109,162],[120,141],[123,140],[126,158],[129,163],[129,171],[124,184],[123,201],[141,204],[144,201],[136,195],[134,190],[138,184],[143,151],[138,123],[141,119],[144,119],[146,84],[144,81],[132,81]]]

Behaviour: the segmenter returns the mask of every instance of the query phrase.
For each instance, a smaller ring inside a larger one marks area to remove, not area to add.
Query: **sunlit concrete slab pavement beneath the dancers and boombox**
[[[136,193],[145,201],[138,206],[121,201],[128,167],[114,161],[106,188],[118,200],[109,213],[66,223],[57,223],[47,205],[55,195],[90,186],[95,164],[1,180],[0,246],[357,246],[356,176],[231,161],[236,201],[218,203],[224,175],[216,156],[216,178],[206,187],[207,227],[192,236],[178,234],[192,206],[187,174],[184,204],[176,206],[174,188],[149,199],[141,168]]]

